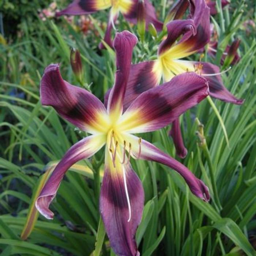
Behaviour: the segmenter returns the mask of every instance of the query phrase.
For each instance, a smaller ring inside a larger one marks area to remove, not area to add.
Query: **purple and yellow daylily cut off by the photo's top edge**
[[[119,12],[121,12],[124,18],[129,22],[137,24],[138,1],[139,0],[74,0],[66,9],[58,12],[56,16],[91,14],[111,7],[104,41],[113,48],[111,30],[115,27],[114,23],[118,18]],[[146,11],[146,28],[149,23],[153,23],[155,28],[161,31],[163,23],[157,19],[155,8],[149,0],[144,0],[144,4]],[[104,45],[100,43],[99,48],[103,49]]]

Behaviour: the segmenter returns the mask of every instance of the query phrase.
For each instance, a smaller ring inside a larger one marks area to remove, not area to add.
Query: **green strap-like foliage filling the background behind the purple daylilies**
[[[61,63],[65,80],[90,86],[102,100],[114,80],[113,50],[98,49],[107,12],[54,18],[54,12],[67,4],[0,2],[4,29],[0,36],[1,256],[114,255],[98,211],[101,151],[96,162],[81,161],[67,173],[52,204],[53,221],[38,218],[33,206],[56,162],[84,136],[52,108],[41,106],[39,81],[44,68]],[[164,20],[172,1],[155,0],[153,4]],[[217,9],[218,14],[211,19],[218,33],[216,55],[208,56],[206,51],[193,59],[219,64],[226,46],[239,38],[241,59],[222,78],[225,86],[245,102],[237,106],[213,99],[229,144],[216,110],[207,100],[181,117],[188,156],[178,160],[206,182],[212,195],[209,204],[191,195],[182,178],[167,167],[132,162],[145,191],[143,219],[136,234],[143,256],[255,255],[256,7],[255,1],[231,1],[223,10]],[[136,26],[122,17],[116,27],[137,33]],[[159,35],[146,33],[135,48],[133,63],[154,58],[158,40]],[[83,83],[72,73],[71,48],[81,53]],[[174,145],[167,136],[169,129],[145,138],[175,157]]]

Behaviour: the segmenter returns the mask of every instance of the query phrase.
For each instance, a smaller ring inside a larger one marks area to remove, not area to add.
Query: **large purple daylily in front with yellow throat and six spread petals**
[[[184,165],[150,142],[133,135],[165,127],[207,97],[207,81],[195,73],[176,76],[161,87],[142,93],[123,112],[132,50],[136,42],[136,36],[128,31],[116,34],[113,46],[117,71],[107,108],[90,92],[63,80],[58,64],[51,64],[45,69],[40,85],[43,105],[53,106],[61,117],[91,135],[67,151],[35,205],[42,215],[52,219],[53,212],[49,210],[49,205],[69,167],[90,158],[105,146],[105,172],[99,208],[114,252],[125,256],[139,255],[135,232],[144,203],[142,183],[129,163],[130,157],[169,166],[184,177],[194,195],[205,201],[210,199],[206,185]]]

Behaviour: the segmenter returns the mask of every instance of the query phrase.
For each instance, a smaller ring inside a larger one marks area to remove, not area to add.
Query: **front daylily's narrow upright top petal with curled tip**
[[[121,33],[116,33],[114,38],[117,71],[114,86],[109,94],[109,113],[116,112],[117,115],[121,115],[123,112],[123,99],[129,79],[132,50],[137,41],[137,37],[126,30]]]

